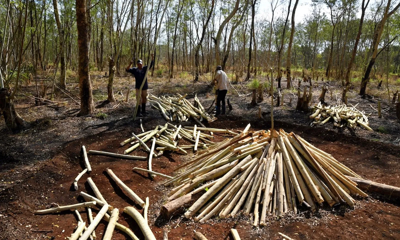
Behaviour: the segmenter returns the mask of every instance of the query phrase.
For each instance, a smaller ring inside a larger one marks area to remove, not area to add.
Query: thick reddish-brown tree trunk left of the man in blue
[[[76,0],[76,28],[78,30],[78,79],[80,95],[80,112],[78,116],[92,114],[94,103],[92,84],[89,74],[88,22],[86,18],[86,1]]]

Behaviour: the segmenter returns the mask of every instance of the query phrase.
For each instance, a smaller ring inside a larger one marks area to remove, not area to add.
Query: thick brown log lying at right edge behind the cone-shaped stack
[[[358,188],[360,188],[361,190],[371,193],[377,193],[389,199],[400,200],[400,188],[398,187],[350,176],[348,178],[353,182],[356,182]]]

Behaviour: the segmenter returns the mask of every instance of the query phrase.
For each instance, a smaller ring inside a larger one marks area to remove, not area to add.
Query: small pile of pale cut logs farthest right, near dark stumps
[[[315,112],[310,115],[314,122],[311,125],[323,125],[327,122],[333,122],[335,127],[342,128],[347,126],[349,128],[356,128],[357,125],[362,126],[370,132],[374,132],[369,126],[368,117],[364,111],[358,110],[356,106],[351,105],[351,107],[346,104],[335,105],[335,106],[325,106],[321,103],[313,106]]]

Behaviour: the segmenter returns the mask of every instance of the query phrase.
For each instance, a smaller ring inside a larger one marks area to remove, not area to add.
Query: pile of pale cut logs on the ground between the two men
[[[216,120],[206,112],[197,95],[194,97],[193,104],[186,99],[187,95],[157,97],[150,94],[148,98],[152,106],[158,109],[167,121],[186,122],[192,117],[200,126],[204,127],[201,123],[203,120],[207,122]]]

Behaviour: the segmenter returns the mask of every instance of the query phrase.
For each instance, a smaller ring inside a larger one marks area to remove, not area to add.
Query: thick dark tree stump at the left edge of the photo
[[[4,116],[6,126],[12,131],[26,128],[28,124],[15,110],[12,100],[8,98],[9,95],[7,88],[0,89],[0,113]]]

